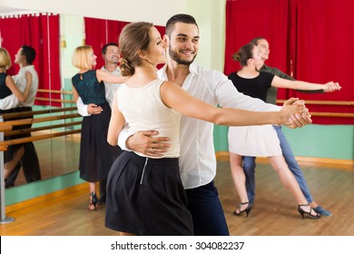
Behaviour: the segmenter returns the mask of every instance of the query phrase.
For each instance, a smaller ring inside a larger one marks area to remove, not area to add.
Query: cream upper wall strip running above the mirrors
[[[186,0],[0,0],[0,6],[163,25],[185,12]]]

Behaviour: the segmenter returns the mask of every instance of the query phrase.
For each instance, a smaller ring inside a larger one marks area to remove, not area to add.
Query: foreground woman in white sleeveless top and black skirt
[[[113,100],[108,142],[117,145],[127,122],[130,132],[156,130],[171,138],[162,158],[123,151],[109,172],[105,226],[121,235],[192,235],[192,216],[179,173],[181,113],[225,125],[290,124],[303,106],[287,105],[280,112],[247,112],[216,108],[197,100],[180,86],[157,78],[156,65],[165,63],[167,44],[150,23],[127,24],[120,35],[121,73],[130,78]]]

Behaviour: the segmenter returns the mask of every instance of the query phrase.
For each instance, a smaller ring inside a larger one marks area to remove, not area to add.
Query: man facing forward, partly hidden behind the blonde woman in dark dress
[[[104,66],[101,68],[103,71],[107,73],[113,73],[114,75],[120,76],[121,72],[118,67],[119,63],[119,49],[118,44],[110,43],[105,44],[102,48],[102,57],[104,60]],[[112,108],[113,103],[113,95],[115,91],[118,89],[120,83],[106,83],[104,82],[104,89],[105,89],[105,98],[107,102],[110,104]],[[97,106],[93,103],[84,105],[82,99],[79,97],[77,102],[77,109],[78,112],[82,116],[88,116],[90,114],[100,113],[102,108]],[[107,130],[108,131],[108,130]],[[117,147],[117,156],[122,153],[122,150]],[[100,181],[100,199],[98,200],[99,204],[105,203],[105,193],[106,193],[106,183],[107,180]]]

